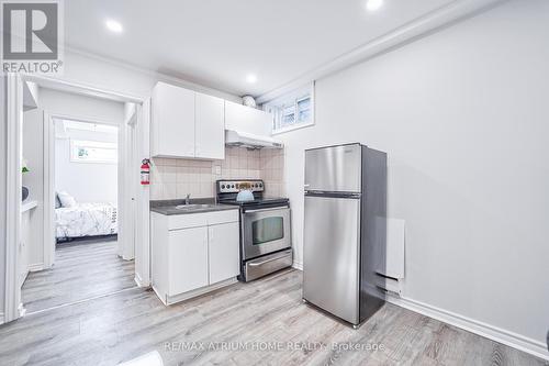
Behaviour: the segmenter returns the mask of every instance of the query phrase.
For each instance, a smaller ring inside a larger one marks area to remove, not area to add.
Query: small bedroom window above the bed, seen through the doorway
[[[98,141],[70,141],[70,162],[116,164],[119,151],[115,143]]]

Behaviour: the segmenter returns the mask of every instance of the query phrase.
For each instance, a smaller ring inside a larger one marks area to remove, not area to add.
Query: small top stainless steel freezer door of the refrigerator
[[[305,190],[360,192],[360,144],[305,151]]]

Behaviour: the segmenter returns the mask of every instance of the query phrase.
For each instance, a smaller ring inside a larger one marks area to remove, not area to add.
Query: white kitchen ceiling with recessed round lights
[[[70,0],[68,47],[259,96],[455,0]],[[119,21],[116,34],[107,20]],[[255,84],[246,78],[257,76]]]

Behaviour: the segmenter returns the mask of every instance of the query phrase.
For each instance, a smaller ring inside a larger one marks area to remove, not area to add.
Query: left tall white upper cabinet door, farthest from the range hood
[[[153,156],[194,157],[194,91],[158,82],[152,103]]]

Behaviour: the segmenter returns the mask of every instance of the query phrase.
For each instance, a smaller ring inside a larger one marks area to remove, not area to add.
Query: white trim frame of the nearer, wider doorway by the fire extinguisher
[[[7,157],[7,197],[5,197],[5,286],[4,286],[4,314],[3,319],[0,317],[0,324],[3,322],[13,321],[22,315],[24,315],[24,308],[21,303],[21,287],[18,285],[18,274],[19,274],[19,245],[21,236],[21,154],[22,154],[22,123],[23,123],[23,82],[33,81],[40,87],[45,87],[49,89],[56,89],[61,91],[69,91],[77,95],[92,96],[96,98],[104,98],[109,100],[115,100],[125,103],[134,103],[135,111],[137,113],[137,125],[136,130],[136,144],[135,147],[138,149],[134,152],[133,156],[143,158],[149,158],[149,121],[150,121],[150,98],[137,98],[131,95],[124,95],[115,91],[104,90],[101,88],[96,88],[92,86],[80,85],[71,81],[65,81],[59,79],[49,78],[46,76],[26,75],[21,76],[19,74],[7,74],[5,75],[5,106],[7,106],[7,119],[5,119],[5,157]],[[146,103],[148,107],[143,108],[142,104]],[[51,119],[51,117],[48,117]],[[89,121],[89,120],[87,120]],[[49,122],[49,121],[48,121]],[[124,120],[123,125],[128,121]],[[103,122],[104,123],[104,122]],[[48,131],[48,140],[53,135],[54,131]],[[55,138],[55,135],[54,135]],[[55,142],[55,140],[52,140]],[[49,148],[49,146],[48,146]],[[46,158],[46,157],[44,157]],[[49,156],[47,157],[49,158]],[[127,169],[131,169],[132,164]],[[51,170],[47,170],[48,174]],[[52,175],[53,176],[53,175]],[[127,173],[126,176],[131,176]],[[137,173],[136,173],[137,176]],[[52,177],[53,179],[53,177]],[[51,180],[51,178],[48,178]],[[131,182],[134,187],[134,192],[136,192],[133,198],[136,200],[137,214],[134,215],[134,245],[136,253],[136,266],[135,266],[135,281],[141,287],[148,287],[150,285],[150,244],[149,244],[149,189],[148,186],[141,186],[139,181],[133,179]],[[120,184],[119,184],[120,187]],[[48,187],[53,188],[52,187]],[[55,192],[55,188],[54,188]],[[54,193],[55,195],[55,193]],[[45,200],[52,200],[52,197],[45,198]],[[55,199],[55,197],[53,197]],[[132,199],[132,197],[130,197]],[[47,202],[45,202],[47,203]],[[53,200],[51,201],[51,207],[53,206]],[[146,212],[141,212],[146,210]],[[53,219],[53,217],[51,218]],[[137,221],[138,220],[138,221]],[[146,234],[146,236],[142,236]],[[54,235],[55,236],[55,235]],[[55,240],[55,237],[54,237]],[[55,246],[54,246],[55,248]],[[44,252],[45,253],[45,252]],[[48,254],[51,257],[48,260],[53,262],[52,253]],[[139,266],[137,266],[139,264]],[[1,315],[1,313],[0,313]]]

